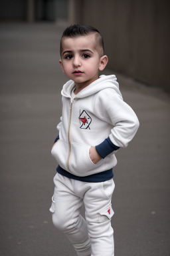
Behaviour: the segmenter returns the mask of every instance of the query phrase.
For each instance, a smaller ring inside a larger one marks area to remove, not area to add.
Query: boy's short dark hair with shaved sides
[[[62,33],[62,37],[60,40],[60,55],[62,52],[62,38],[63,37],[78,37],[78,36],[90,35],[91,33],[96,34],[97,44],[100,47],[100,49],[102,49],[102,55],[104,55],[104,41],[103,41],[102,35],[98,31],[98,29],[95,29],[94,27],[91,27],[88,25],[80,25],[80,24],[70,25]]]

